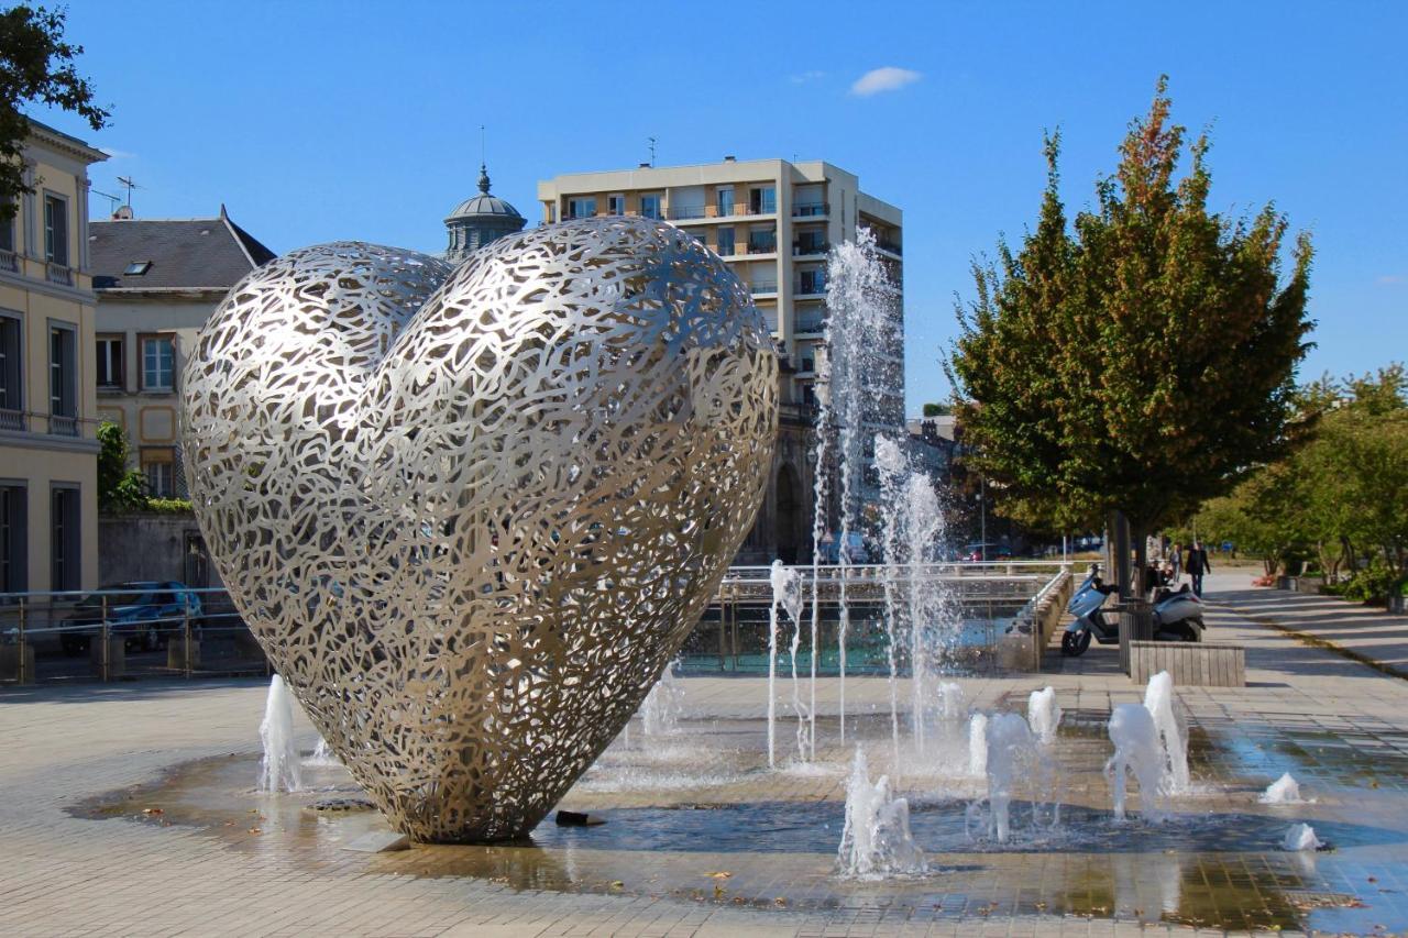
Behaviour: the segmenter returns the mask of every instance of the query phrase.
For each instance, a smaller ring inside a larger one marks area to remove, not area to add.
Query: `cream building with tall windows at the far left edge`
[[[0,221],[0,593],[97,582],[94,296],[87,168],[107,156],[30,121]]]

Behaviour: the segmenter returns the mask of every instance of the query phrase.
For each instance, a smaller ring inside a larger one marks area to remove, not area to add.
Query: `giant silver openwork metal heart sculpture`
[[[235,607],[420,841],[521,837],[591,765],[717,590],[777,432],[748,290],[642,218],[453,270],[294,251],[231,290],[182,389]]]

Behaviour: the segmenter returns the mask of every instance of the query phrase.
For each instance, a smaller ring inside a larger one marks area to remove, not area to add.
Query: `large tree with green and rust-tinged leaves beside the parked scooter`
[[[1312,325],[1309,238],[1294,239],[1283,276],[1284,215],[1209,211],[1208,138],[1186,146],[1170,108],[1160,79],[1074,223],[1048,137],[1036,228],[974,263],[976,299],[957,310],[945,362],[969,459],[1000,510],[1056,528],[1122,513],[1140,561],[1146,532],[1290,452]]]

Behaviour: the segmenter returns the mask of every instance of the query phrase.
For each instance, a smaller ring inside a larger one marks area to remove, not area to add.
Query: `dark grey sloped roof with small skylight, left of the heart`
[[[218,218],[127,218],[89,223],[93,289],[228,290],[275,258],[221,206]],[[151,261],[146,273],[128,275]]]

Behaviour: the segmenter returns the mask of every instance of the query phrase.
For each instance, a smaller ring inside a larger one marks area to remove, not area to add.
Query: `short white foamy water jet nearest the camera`
[[[846,825],[836,851],[849,877],[922,873],[924,852],[910,832],[910,803],[890,792],[890,779],[870,782],[866,755],[856,748],[846,783]]]

